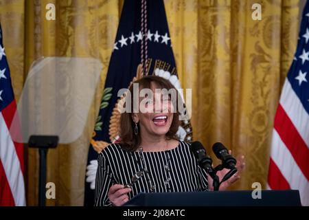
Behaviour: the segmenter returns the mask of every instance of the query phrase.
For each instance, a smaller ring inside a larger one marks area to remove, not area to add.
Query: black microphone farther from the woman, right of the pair
[[[215,143],[212,146],[212,151],[214,151],[216,157],[222,160],[222,166],[228,169],[236,169],[236,159],[229,154],[227,148],[220,142]]]

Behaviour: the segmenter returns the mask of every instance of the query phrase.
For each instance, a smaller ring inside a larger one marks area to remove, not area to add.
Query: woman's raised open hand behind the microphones
[[[231,150],[229,151],[229,154],[231,154]],[[227,181],[222,182],[222,184],[220,184],[219,190],[226,190],[229,186],[231,186],[231,184],[233,184],[238,179],[240,179],[240,174],[242,173],[242,170],[244,169],[245,165],[246,164],[244,163],[244,155],[241,155],[240,157],[237,158],[237,162],[236,162],[237,172],[234,175],[232,175],[231,178],[227,179]],[[227,168],[219,170],[217,172],[219,180],[221,181],[228,172],[229,172],[229,169]],[[212,183],[213,183],[213,180],[208,175],[208,187],[210,191],[214,190]]]

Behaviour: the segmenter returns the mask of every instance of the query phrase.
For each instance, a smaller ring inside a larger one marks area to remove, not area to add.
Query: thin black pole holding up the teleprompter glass
[[[38,206],[45,206],[47,151],[48,148],[38,148],[38,153],[40,157],[40,175],[38,179]]]

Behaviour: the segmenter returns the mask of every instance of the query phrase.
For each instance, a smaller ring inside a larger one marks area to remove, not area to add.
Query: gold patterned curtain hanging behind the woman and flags
[[[56,21],[45,5],[56,5]],[[245,155],[233,188],[266,188],[273,118],[293,59],[299,29],[297,0],[264,0],[262,20],[251,18],[254,0],[165,0],[184,88],[192,88],[194,140],[211,152],[222,142]],[[50,150],[47,181],[56,184],[49,206],[81,206],[89,140],[100,105],[123,0],[0,0],[0,21],[19,100],[30,65],[42,56],[91,56],[104,64],[84,135]],[[214,155],[212,155],[214,158]],[[37,204],[38,153],[27,152],[27,204]]]

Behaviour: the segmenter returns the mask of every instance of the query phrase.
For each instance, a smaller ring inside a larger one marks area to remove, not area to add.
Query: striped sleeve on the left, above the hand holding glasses
[[[111,168],[106,163],[103,153],[98,156],[98,170],[95,177],[95,206],[112,206],[107,193],[113,185],[110,175]]]

